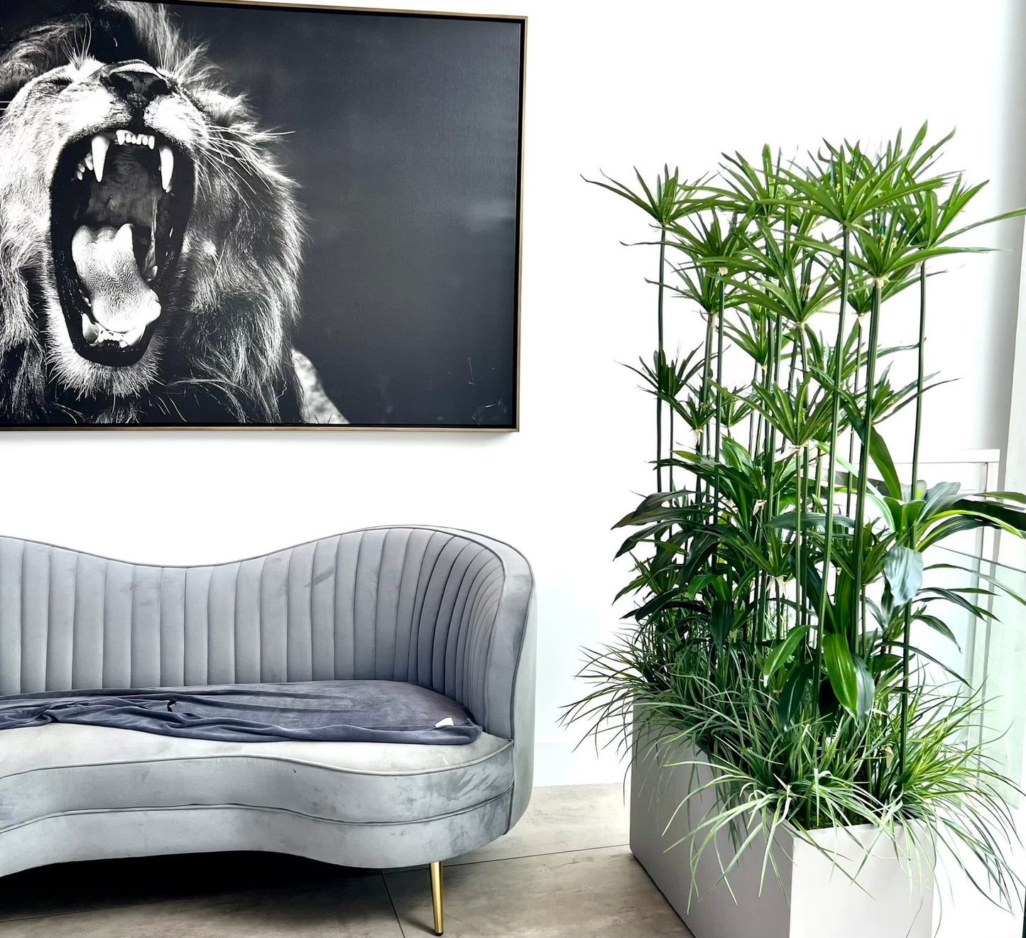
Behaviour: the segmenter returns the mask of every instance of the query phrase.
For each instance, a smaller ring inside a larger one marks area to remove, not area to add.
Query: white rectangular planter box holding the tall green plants
[[[856,885],[816,848],[781,830],[774,844],[780,880],[767,864],[760,893],[765,845],[761,837],[731,871],[731,888],[716,885],[722,875],[720,863],[725,866],[735,855],[724,833],[717,841],[719,858],[712,845],[703,855],[693,892],[689,844],[667,848],[686,837],[693,823],[701,822],[713,807],[713,793],[707,790],[693,798],[690,811],[681,809],[669,830],[663,831],[693,778],[702,785],[712,777],[711,769],[703,765],[693,777],[690,766],[661,767],[649,746],[639,748],[636,737],[634,752],[631,852],[696,938],[932,938],[932,859],[899,856],[885,838],[873,844]],[[686,759],[705,761],[697,750],[679,748],[670,761]],[[815,839],[854,873],[863,861],[862,846],[872,843],[872,829],[828,828],[817,831]]]

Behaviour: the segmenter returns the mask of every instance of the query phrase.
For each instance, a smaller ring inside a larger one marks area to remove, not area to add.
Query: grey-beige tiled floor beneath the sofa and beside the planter
[[[620,785],[536,788],[505,837],[445,864],[445,934],[688,938],[627,848]],[[433,935],[426,868],[277,854],[96,860],[0,878],[0,938]]]

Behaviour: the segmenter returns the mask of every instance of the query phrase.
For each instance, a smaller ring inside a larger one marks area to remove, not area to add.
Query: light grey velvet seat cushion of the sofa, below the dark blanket
[[[513,784],[513,744],[237,743],[66,724],[0,733],[0,832],[69,812],[235,805],[351,823],[467,811]]]

